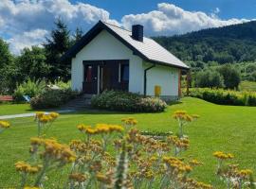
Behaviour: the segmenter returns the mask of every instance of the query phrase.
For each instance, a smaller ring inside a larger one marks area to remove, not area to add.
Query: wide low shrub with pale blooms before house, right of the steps
[[[93,108],[123,112],[163,112],[167,105],[155,97],[121,91],[104,91],[92,97]]]

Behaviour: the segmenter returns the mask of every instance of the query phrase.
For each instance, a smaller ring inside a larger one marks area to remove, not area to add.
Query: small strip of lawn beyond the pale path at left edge
[[[32,112],[29,104],[0,104],[0,115]]]

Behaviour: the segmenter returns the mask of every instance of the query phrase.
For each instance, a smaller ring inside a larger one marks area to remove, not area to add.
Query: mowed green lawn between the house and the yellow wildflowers
[[[191,146],[182,154],[186,159],[196,158],[204,165],[197,167],[192,177],[211,183],[215,188],[224,188],[214,175],[216,160],[212,152],[223,150],[235,155],[232,163],[241,168],[251,168],[256,173],[256,108],[214,105],[197,98],[183,98],[181,103],[172,105],[162,113],[118,113],[118,112],[78,112],[62,114],[48,132],[63,143],[82,138],[76,129],[80,123],[119,124],[122,117],[137,118],[137,128],[141,130],[177,131],[177,123],[172,118],[176,110],[196,113],[200,118],[189,124],[185,131],[190,136]],[[11,128],[0,134],[0,186],[13,187],[20,180],[14,163],[28,159],[29,138],[36,135],[33,118],[9,120]],[[65,179],[53,172],[48,182]],[[1,188],[1,187],[0,187]],[[48,188],[54,188],[48,186]]]

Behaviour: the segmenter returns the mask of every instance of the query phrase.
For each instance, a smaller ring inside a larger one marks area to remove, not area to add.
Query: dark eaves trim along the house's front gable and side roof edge
[[[137,48],[135,48],[133,45],[131,45],[130,43],[123,40],[116,32],[114,32],[112,29],[110,29],[108,26],[106,26],[101,21],[99,21],[98,24],[93,26],[85,35],[83,35],[82,39],[79,42],[75,43],[69,50],[67,50],[67,52],[64,54],[64,56],[61,58],[61,60],[62,61],[63,60],[72,60],[72,58],[76,57],[77,53],[80,52],[86,44],[90,43],[103,29],[105,29],[111,35],[113,35],[116,39],[118,39],[119,42],[123,43],[128,48],[130,48],[133,51],[133,54],[137,55],[142,60],[151,61],[151,62],[154,62],[156,64],[160,64],[160,65],[176,67],[176,68],[179,68],[179,69],[190,70],[190,68],[176,66],[174,64],[169,64],[167,62],[162,62],[162,61],[157,61],[157,60],[150,60],[147,56],[145,56],[143,53],[141,53],[139,50],[137,50]]]

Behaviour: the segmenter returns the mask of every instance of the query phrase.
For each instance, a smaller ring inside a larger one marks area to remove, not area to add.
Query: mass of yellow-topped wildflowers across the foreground
[[[37,113],[36,119],[41,123],[40,117],[44,116],[45,113]],[[56,114],[55,119],[57,117]],[[174,118],[189,122],[198,116],[175,112]],[[82,139],[72,140],[69,146],[52,138],[31,138],[29,151],[32,161],[15,164],[22,176],[20,188],[24,188],[27,182],[31,183],[30,177],[35,181],[27,188],[43,188],[49,170],[59,170],[70,164],[64,188],[212,189],[210,184],[191,178],[193,169],[203,163],[180,157],[181,152],[190,146],[188,137],[169,133],[164,137],[143,135],[134,127],[137,125],[134,118],[123,118],[121,122],[124,127],[80,124],[77,129],[82,132]],[[129,126],[133,127],[129,129]],[[110,153],[109,149],[113,148],[115,152]],[[217,174],[227,181],[228,188],[242,189],[251,180],[250,169],[240,170],[236,165],[225,165],[233,158],[232,154],[217,151],[213,156],[219,163]]]

